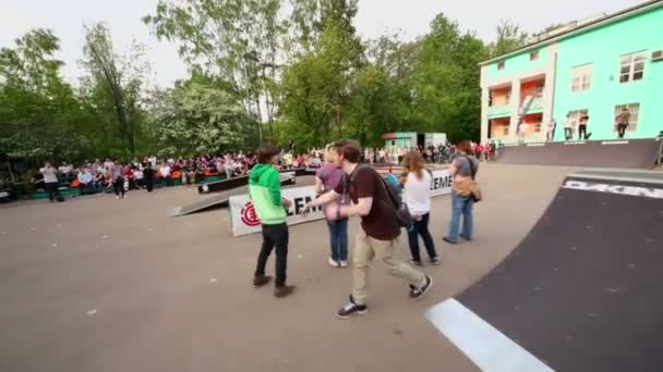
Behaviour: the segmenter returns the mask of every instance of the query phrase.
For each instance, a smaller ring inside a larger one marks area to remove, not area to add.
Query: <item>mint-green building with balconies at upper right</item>
[[[565,139],[567,115],[578,138],[589,116],[591,139],[617,138],[615,117],[628,108],[625,138],[663,131],[663,0],[571,22],[528,46],[481,63],[481,139]]]

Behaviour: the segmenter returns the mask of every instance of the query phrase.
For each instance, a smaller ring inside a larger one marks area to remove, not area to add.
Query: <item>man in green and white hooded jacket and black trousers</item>
[[[273,166],[278,163],[279,153],[280,149],[273,145],[263,145],[258,148],[257,164],[253,166],[249,176],[249,195],[263,227],[263,247],[257,257],[253,286],[262,287],[272,280],[270,276],[265,275],[265,265],[276,247],[274,296],[280,298],[292,294],[294,286],[286,285],[289,239],[286,216],[292,201],[281,198],[279,173]]]

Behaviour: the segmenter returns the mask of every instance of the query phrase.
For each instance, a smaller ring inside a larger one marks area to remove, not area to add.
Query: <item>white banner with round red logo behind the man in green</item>
[[[315,188],[313,186],[285,188],[281,189],[281,196],[292,201],[292,207],[288,210],[288,218],[286,219],[289,226],[325,218],[322,208],[317,208],[305,218],[301,214],[304,206],[315,199]],[[231,196],[228,203],[232,236],[242,236],[262,231],[261,220],[255,213],[249,194]]]

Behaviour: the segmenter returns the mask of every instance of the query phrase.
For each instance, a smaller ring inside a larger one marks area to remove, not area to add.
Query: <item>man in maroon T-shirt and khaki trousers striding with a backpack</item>
[[[369,165],[359,165],[361,147],[358,141],[342,139],[334,145],[336,164],[345,173],[343,182],[327,194],[308,203],[303,213],[314,207],[327,204],[348,194],[351,206],[328,208],[327,213],[337,213],[338,218],[360,215],[361,230],[354,241],[352,258],[352,290],[350,302],[342,307],[336,315],[347,319],[353,314],[365,314],[369,262],[374,257],[381,259],[394,276],[406,280],[410,284],[410,298],[420,298],[432,286],[433,278],[409,264],[400,261],[398,250],[403,248],[399,239],[403,222],[400,201],[395,200],[382,176]],[[337,204],[329,204],[337,206]],[[407,209],[405,209],[407,212]],[[409,212],[408,216],[409,216]],[[411,221],[410,221],[411,223]]]

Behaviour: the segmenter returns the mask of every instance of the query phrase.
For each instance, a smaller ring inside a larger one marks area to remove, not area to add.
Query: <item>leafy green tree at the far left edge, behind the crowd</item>
[[[37,163],[79,159],[92,148],[91,117],[60,76],[59,48],[50,30],[33,29],[0,49],[0,154]]]

